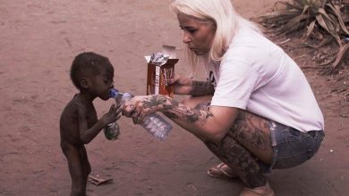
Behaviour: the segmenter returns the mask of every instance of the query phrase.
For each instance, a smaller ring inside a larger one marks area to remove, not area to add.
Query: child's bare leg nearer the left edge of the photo
[[[69,172],[72,178],[71,196],[86,195],[86,180],[82,167],[81,149],[77,149],[71,144],[66,144],[62,149],[68,160]]]

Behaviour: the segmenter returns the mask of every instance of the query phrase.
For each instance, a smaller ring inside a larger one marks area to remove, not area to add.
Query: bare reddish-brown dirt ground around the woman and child
[[[58,121],[76,89],[73,57],[93,51],[115,66],[115,86],[145,94],[144,55],[161,45],[179,48],[176,72],[187,74],[181,31],[169,0],[0,0],[0,195],[69,195],[71,179],[59,146]],[[271,10],[274,0],[235,0],[245,17]],[[300,66],[312,65],[292,41],[281,45]],[[319,76],[304,69],[326,119],[318,154],[299,167],[268,176],[277,195],[349,194],[349,107],[336,90],[347,75]],[[344,76],[340,78],[341,76]],[[335,89],[335,90],[334,90]],[[306,100],[304,100],[306,102]],[[112,101],[96,100],[98,115]],[[165,142],[121,118],[119,140],[99,134],[87,145],[92,175],[110,184],[88,184],[88,195],[238,195],[237,180],[206,170],[219,160],[194,136],[175,126]]]

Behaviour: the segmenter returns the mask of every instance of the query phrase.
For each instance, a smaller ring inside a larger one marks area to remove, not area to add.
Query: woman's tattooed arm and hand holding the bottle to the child
[[[214,143],[221,141],[233,126],[239,110],[231,107],[209,106],[206,102],[189,108],[161,94],[136,96],[123,107],[123,114],[132,116],[135,123],[140,123],[149,113],[161,111],[174,123],[202,141]]]

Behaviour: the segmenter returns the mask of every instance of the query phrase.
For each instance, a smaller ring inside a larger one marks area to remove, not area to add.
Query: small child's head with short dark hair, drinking
[[[89,90],[101,93],[103,88],[113,87],[114,68],[110,61],[97,53],[80,53],[71,68],[72,83],[80,91]],[[99,91],[98,91],[99,90]]]

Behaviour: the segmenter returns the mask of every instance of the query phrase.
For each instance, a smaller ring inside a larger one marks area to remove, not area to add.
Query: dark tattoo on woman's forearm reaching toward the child
[[[185,118],[188,122],[200,122],[203,126],[208,121],[210,117],[213,117],[213,114],[209,112],[209,103],[200,103],[194,109],[188,109],[184,105],[179,105],[178,102],[174,100],[168,100],[163,105],[163,108],[166,110],[164,114],[168,118]]]

